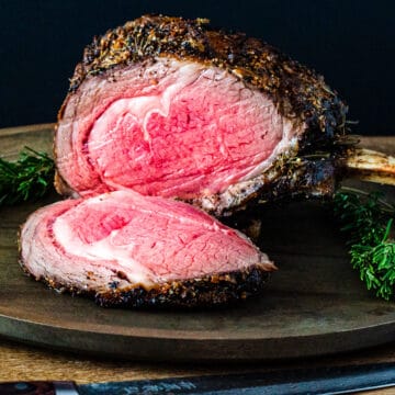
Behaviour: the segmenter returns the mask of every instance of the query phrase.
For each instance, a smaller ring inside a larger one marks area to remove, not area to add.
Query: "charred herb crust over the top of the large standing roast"
[[[145,15],[93,38],[70,80],[70,93],[90,76],[156,57],[204,63],[258,88],[281,115],[307,131],[300,148],[328,146],[345,134],[347,106],[314,70],[242,33],[211,30],[208,20]]]

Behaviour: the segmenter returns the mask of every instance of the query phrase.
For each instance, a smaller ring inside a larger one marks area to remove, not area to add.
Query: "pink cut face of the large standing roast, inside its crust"
[[[71,97],[65,109],[64,122],[76,106],[82,125],[72,131],[79,146],[71,160],[88,158],[94,168],[92,172],[81,167],[72,180],[83,196],[124,188],[183,200],[223,192],[258,174],[284,149],[282,139],[290,139],[292,126],[284,124],[273,103],[258,91],[244,91],[235,76],[219,68],[158,59],[143,76],[139,65],[114,79],[95,90],[98,97],[115,92],[111,104],[90,108],[89,97],[78,104]],[[94,82],[83,88],[95,89]],[[67,153],[61,145],[57,155],[64,173],[70,159],[63,160]]]

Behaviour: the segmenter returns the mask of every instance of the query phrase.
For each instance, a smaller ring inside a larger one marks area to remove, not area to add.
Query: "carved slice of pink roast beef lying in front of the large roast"
[[[33,213],[21,263],[101,305],[195,306],[258,294],[274,266],[242,234],[193,206],[115,191]]]

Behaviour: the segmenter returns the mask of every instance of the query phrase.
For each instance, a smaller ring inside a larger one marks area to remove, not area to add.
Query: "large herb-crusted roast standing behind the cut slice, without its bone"
[[[215,215],[331,194],[346,111],[320,76],[259,40],[146,15],[86,48],[59,112],[57,189],[133,190]]]

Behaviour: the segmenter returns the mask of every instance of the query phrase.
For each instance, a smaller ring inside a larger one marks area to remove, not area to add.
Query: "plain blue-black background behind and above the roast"
[[[394,135],[394,1],[0,0],[0,127],[54,122],[93,35],[144,13],[208,18],[325,76],[353,132]]]

